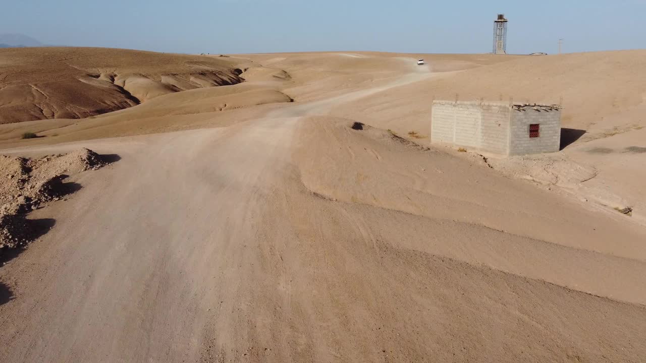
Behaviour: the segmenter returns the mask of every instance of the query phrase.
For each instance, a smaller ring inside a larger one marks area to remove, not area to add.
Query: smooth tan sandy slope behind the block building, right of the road
[[[455,99],[457,94],[462,100],[559,103],[562,99],[565,149],[501,160],[497,167],[547,188],[557,184],[581,200],[609,209],[636,207],[634,220],[646,223],[646,189],[639,182],[646,178],[646,50],[502,58],[507,61],[463,70],[444,68],[448,72],[434,72],[426,79],[337,105],[330,113],[402,136],[414,131],[421,138],[418,142],[428,143],[433,98]],[[433,68],[433,56],[427,59]]]

